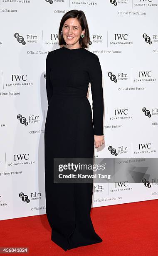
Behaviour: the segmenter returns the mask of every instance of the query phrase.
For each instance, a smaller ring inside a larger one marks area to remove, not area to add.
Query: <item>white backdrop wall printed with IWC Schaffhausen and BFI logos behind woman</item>
[[[45,63],[72,9],[86,15],[103,72],[105,145],[94,157],[158,158],[158,1],[0,0],[1,220],[45,214]],[[118,179],[94,184],[92,207],[157,198],[157,182]]]

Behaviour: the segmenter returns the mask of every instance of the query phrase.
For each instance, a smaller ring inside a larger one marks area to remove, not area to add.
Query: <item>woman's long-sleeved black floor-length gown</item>
[[[93,120],[87,91],[91,82]],[[48,99],[44,132],[46,213],[51,239],[64,251],[99,243],[91,218],[92,183],[54,183],[54,158],[93,158],[103,135],[102,72],[96,54],[64,46],[46,59]],[[99,216],[98,216],[99,218]]]

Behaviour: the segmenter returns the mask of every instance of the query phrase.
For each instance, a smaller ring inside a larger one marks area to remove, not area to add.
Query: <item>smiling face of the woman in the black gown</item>
[[[62,27],[63,38],[68,45],[79,47],[79,38],[84,31],[77,18],[69,18],[64,22]]]

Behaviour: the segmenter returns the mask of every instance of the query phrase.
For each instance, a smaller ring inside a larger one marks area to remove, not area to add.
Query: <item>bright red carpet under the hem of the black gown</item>
[[[29,256],[158,256],[158,200],[92,208],[91,219],[102,243],[65,252],[50,240],[47,216],[37,215],[1,220],[0,247],[29,247]]]

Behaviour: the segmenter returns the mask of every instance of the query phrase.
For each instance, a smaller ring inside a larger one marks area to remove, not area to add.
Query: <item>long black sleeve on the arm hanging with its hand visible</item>
[[[91,95],[93,100],[92,108],[94,135],[104,135],[104,99],[102,87],[102,71],[99,58],[97,55],[94,55],[93,60],[89,63],[89,77],[91,83]]]

